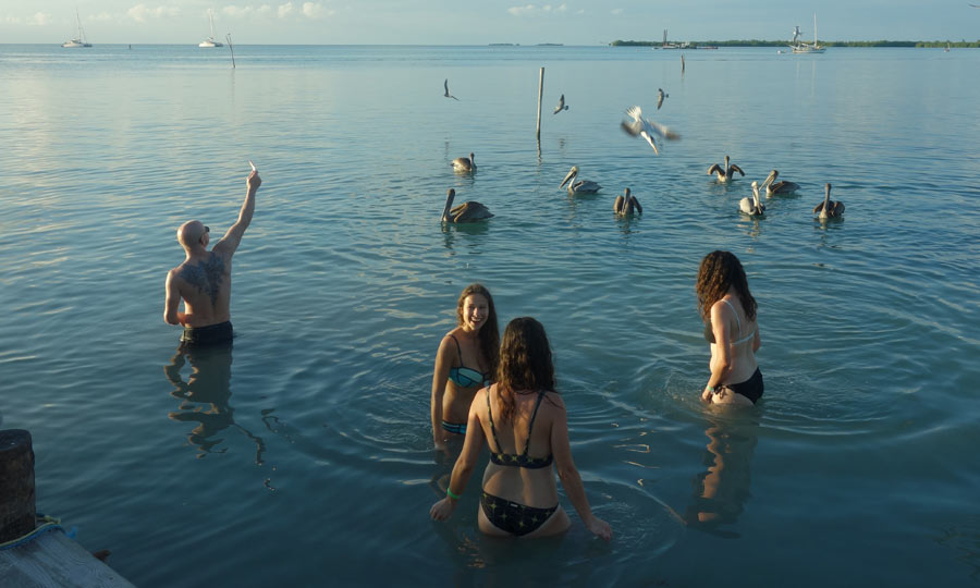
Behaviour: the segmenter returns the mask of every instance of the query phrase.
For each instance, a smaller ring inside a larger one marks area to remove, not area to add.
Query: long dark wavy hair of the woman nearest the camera
[[[504,329],[500,345],[500,368],[497,370],[503,418],[513,418],[515,392],[554,391],[554,364],[544,327],[531,317],[515,318]]]

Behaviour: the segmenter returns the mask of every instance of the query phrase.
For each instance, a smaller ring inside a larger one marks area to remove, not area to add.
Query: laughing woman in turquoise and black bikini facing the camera
[[[436,352],[432,373],[432,440],[445,451],[452,436],[466,434],[473,396],[490,383],[500,357],[500,329],[493,297],[481,284],[469,284],[456,302],[456,328]]]

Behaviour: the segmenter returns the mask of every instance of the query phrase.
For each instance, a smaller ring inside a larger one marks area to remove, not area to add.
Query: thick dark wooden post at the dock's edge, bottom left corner
[[[36,514],[30,433],[0,431],[0,543],[33,531]]]

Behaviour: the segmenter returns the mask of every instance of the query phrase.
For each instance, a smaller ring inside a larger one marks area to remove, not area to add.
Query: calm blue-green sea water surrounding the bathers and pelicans
[[[0,426],[34,437],[38,510],[125,577],[980,581],[980,52],[722,48],[687,51],[683,75],[678,52],[635,48],[235,58],[0,46]],[[623,134],[634,103],[683,139],[657,157]],[[478,173],[454,175],[469,151]],[[731,186],[705,173],[726,154],[747,173]],[[161,320],[174,231],[223,233],[248,159],[264,185],[235,257],[238,336],[185,358]],[[559,189],[573,164],[603,192]],[[801,189],[742,217],[772,168]],[[826,182],[847,212],[821,224]],[[626,186],[642,217],[613,216]],[[495,218],[442,226],[449,187]],[[759,301],[765,396],[738,415],[697,400],[694,281],[715,248]],[[501,328],[548,329],[611,543],[577,519],[554,540],[482,537],[477,475],[449,524],[428,519],[452,467],[430,449],[432,360],[473,281]]]

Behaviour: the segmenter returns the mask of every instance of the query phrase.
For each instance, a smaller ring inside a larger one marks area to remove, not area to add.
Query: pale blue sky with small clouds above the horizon
[[[978,40],[980,0],[0,0],[0,44],[605,45],[616,39]]]

